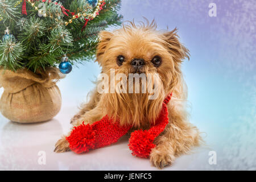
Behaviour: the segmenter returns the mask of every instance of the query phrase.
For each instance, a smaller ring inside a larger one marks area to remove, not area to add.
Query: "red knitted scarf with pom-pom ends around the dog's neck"
[[[133,155],[141,158],[148,158],[150,155],[152,148],[155,147],[154,139],[163,132],[168,124],[167,104],[171,100],[171,96],[172,93],[164,100],[162,110],[155,120],[155,124],[149,130],[136,130],[131,133],[128,145],[133,151]],[[85,125],[83,122],[82,125],[73,127],[71,134],[66,139],[69,142],[69,148],[80,154],[117,142],[119,138],[128,133],[131,127],[131,125],[120,126],[119,122],[113,122],[113,119],[106,115],[92,125]]]

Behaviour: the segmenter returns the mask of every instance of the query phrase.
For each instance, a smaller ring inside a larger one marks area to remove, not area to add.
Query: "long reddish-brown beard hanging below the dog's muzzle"
[[[147,127],[155,121],[162,109],[165,91],[162,82],[159,86],[159,94],[154,100],[148,99],[150,96],[148,92],[103,93],[102,108],[104,108],[105,114],[117,119],[121,125]]]

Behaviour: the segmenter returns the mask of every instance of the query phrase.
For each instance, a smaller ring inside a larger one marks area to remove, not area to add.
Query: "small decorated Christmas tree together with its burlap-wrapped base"
[[[1,113],[20,123],[53,118],[61,108],[60,72],[94,57],[98,32],[121,23],[119,5],[120,0],[0,0]]]

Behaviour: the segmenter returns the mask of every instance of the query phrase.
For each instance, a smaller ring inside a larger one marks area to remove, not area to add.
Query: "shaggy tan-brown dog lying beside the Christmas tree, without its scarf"
[[[164,98],[172,92],[168,104],[170,122],[156,137],[150,161],[163,168],[193,146],[199,146],[199,130],[188,122],[187,89],[181,73],[182,60],[189,59],[189,53],[179,42],[176,32],[176,28],[169,32],[157,31],[154,20],[146,25],[130,22],[113,32],[102,31],[96,60],[102,73],[110,75],[110,69],[126,76],[129,73],[158,73],[159,94],[154,100],[148,100],[149,93],[99,93],[96,85],[90,101],[72,118],[72,125],[79,126],[83,121],[93,123],[108,114],[119,118],[121,125],[129,123],[133,129],[147,129],[158,116]],[[57,141],[55,151],[68,151],[68,145],[63,137]]]

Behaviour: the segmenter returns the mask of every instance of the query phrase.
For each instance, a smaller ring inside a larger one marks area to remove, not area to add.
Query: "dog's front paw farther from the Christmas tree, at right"
[[[169,154],[167,151],[161,150],[158,146],[152,148],[150,153],[150,162],[153,166],[162,169],[170,166],[175,160],[175,156]]]

